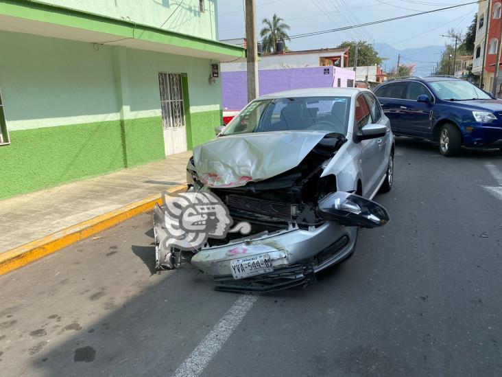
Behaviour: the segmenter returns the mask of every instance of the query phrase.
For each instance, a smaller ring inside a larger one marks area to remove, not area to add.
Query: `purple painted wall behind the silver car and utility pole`
[[[246,71],[222,72],[222,102],[229,110],[241,110],[248,104]],[[337,67],[263,69],[258,73],[260,95],[290,89],[347,87],[355,72]]]

